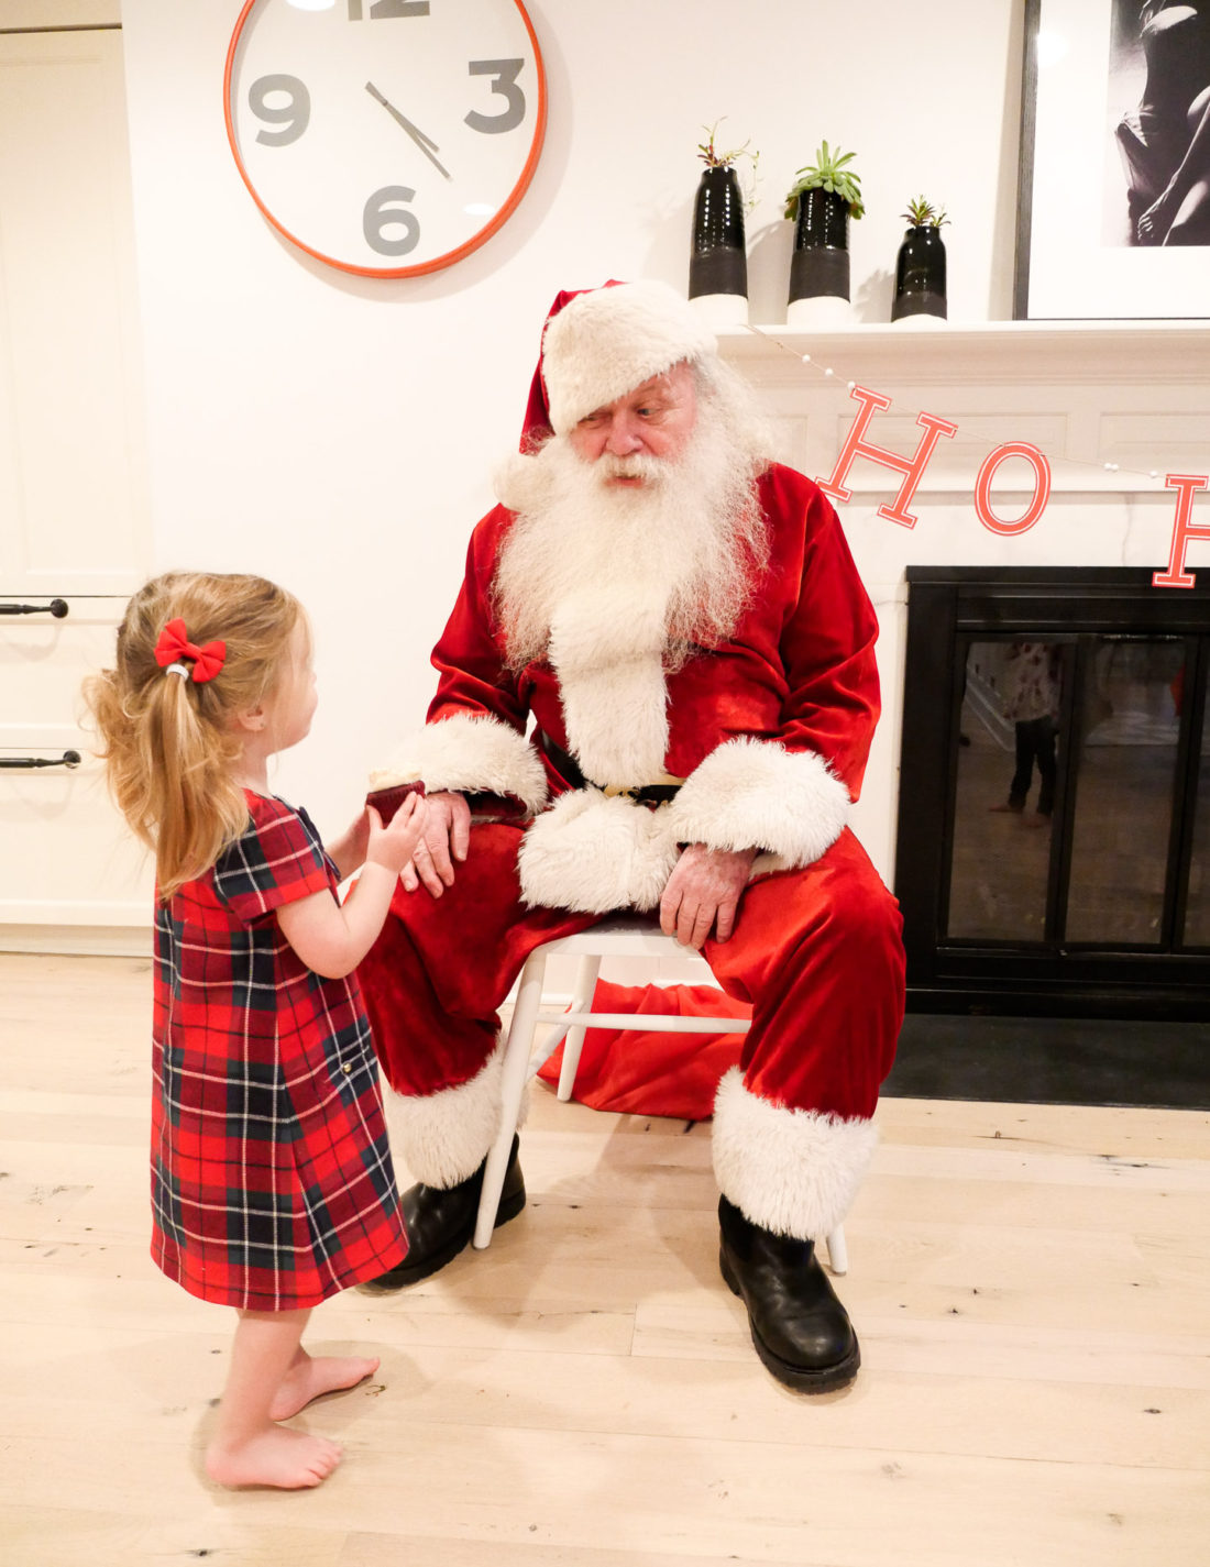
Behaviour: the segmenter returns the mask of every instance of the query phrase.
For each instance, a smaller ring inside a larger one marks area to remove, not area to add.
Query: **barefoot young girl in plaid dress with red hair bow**
[[[238,1310],[207,1473],[318,1486],[340,1448],[277,1421],[378,1360],[312,1359],[302,1327],[408,1252],[353,970],[425,805],[409,796],[387,827],[362,812],[329,857],[270,791],[268,758],[309,732],[317,696],[302,610],[259,577],[147,583],[86,696],[118,805],[155,851],[152,1257]]]

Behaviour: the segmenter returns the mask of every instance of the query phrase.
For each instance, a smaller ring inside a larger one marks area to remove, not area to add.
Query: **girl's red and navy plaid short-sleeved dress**
[[[157,909],[152,1257],[190,1294],[287,1312],[408,1236],[357,979],[312,973],[273,914],[335,896],[335,867],[306,812],[246,793],[243,837]]]

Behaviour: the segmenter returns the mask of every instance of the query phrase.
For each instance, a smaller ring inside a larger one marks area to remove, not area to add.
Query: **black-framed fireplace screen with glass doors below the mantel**
[[[908,583],[909,1004],[1210,1017],[1210,594],[1100,569]]]

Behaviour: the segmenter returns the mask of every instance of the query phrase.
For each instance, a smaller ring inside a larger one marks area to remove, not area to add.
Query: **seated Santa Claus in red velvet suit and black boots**
[[[779,1381],[843,1387],[857,1338],[813,1243],[868,1166],[903,1017],[898,909],[846,826],[879,704],[845,536],[655,282],[560,296],[497,494],[398,752],[425,841],[362,967],[420,1177],[378,1287],[470,1239],[525,957],[658,910],[752,1004],[715,1100],[723,1279]],[[497,1222],[523,1203],[514,1144]]]

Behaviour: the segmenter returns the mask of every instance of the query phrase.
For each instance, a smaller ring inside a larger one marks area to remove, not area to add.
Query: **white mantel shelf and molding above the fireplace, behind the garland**
[[[1166,473],[1210,470],[1210,321],[842,332],[773,324],[724,329],[719,351],[762,393],[787,459],[812,478],[832,473],[857,412],[848,382],[892,398],[868,428],[868,439],[892,451],[915,451],[920,412],[958,425],[955,437],[937,442],[922,497],[970,490],[981,462],[1005,442],[1038,447],[1053,489],[1069,495],[1154,494],[1171,506]],[[1022,483],[1022,469],[1005,467],[997,481],[1005,495]],[[897,489],[890,470],[870,461],[854,462],[846,484],[854,495]]]

